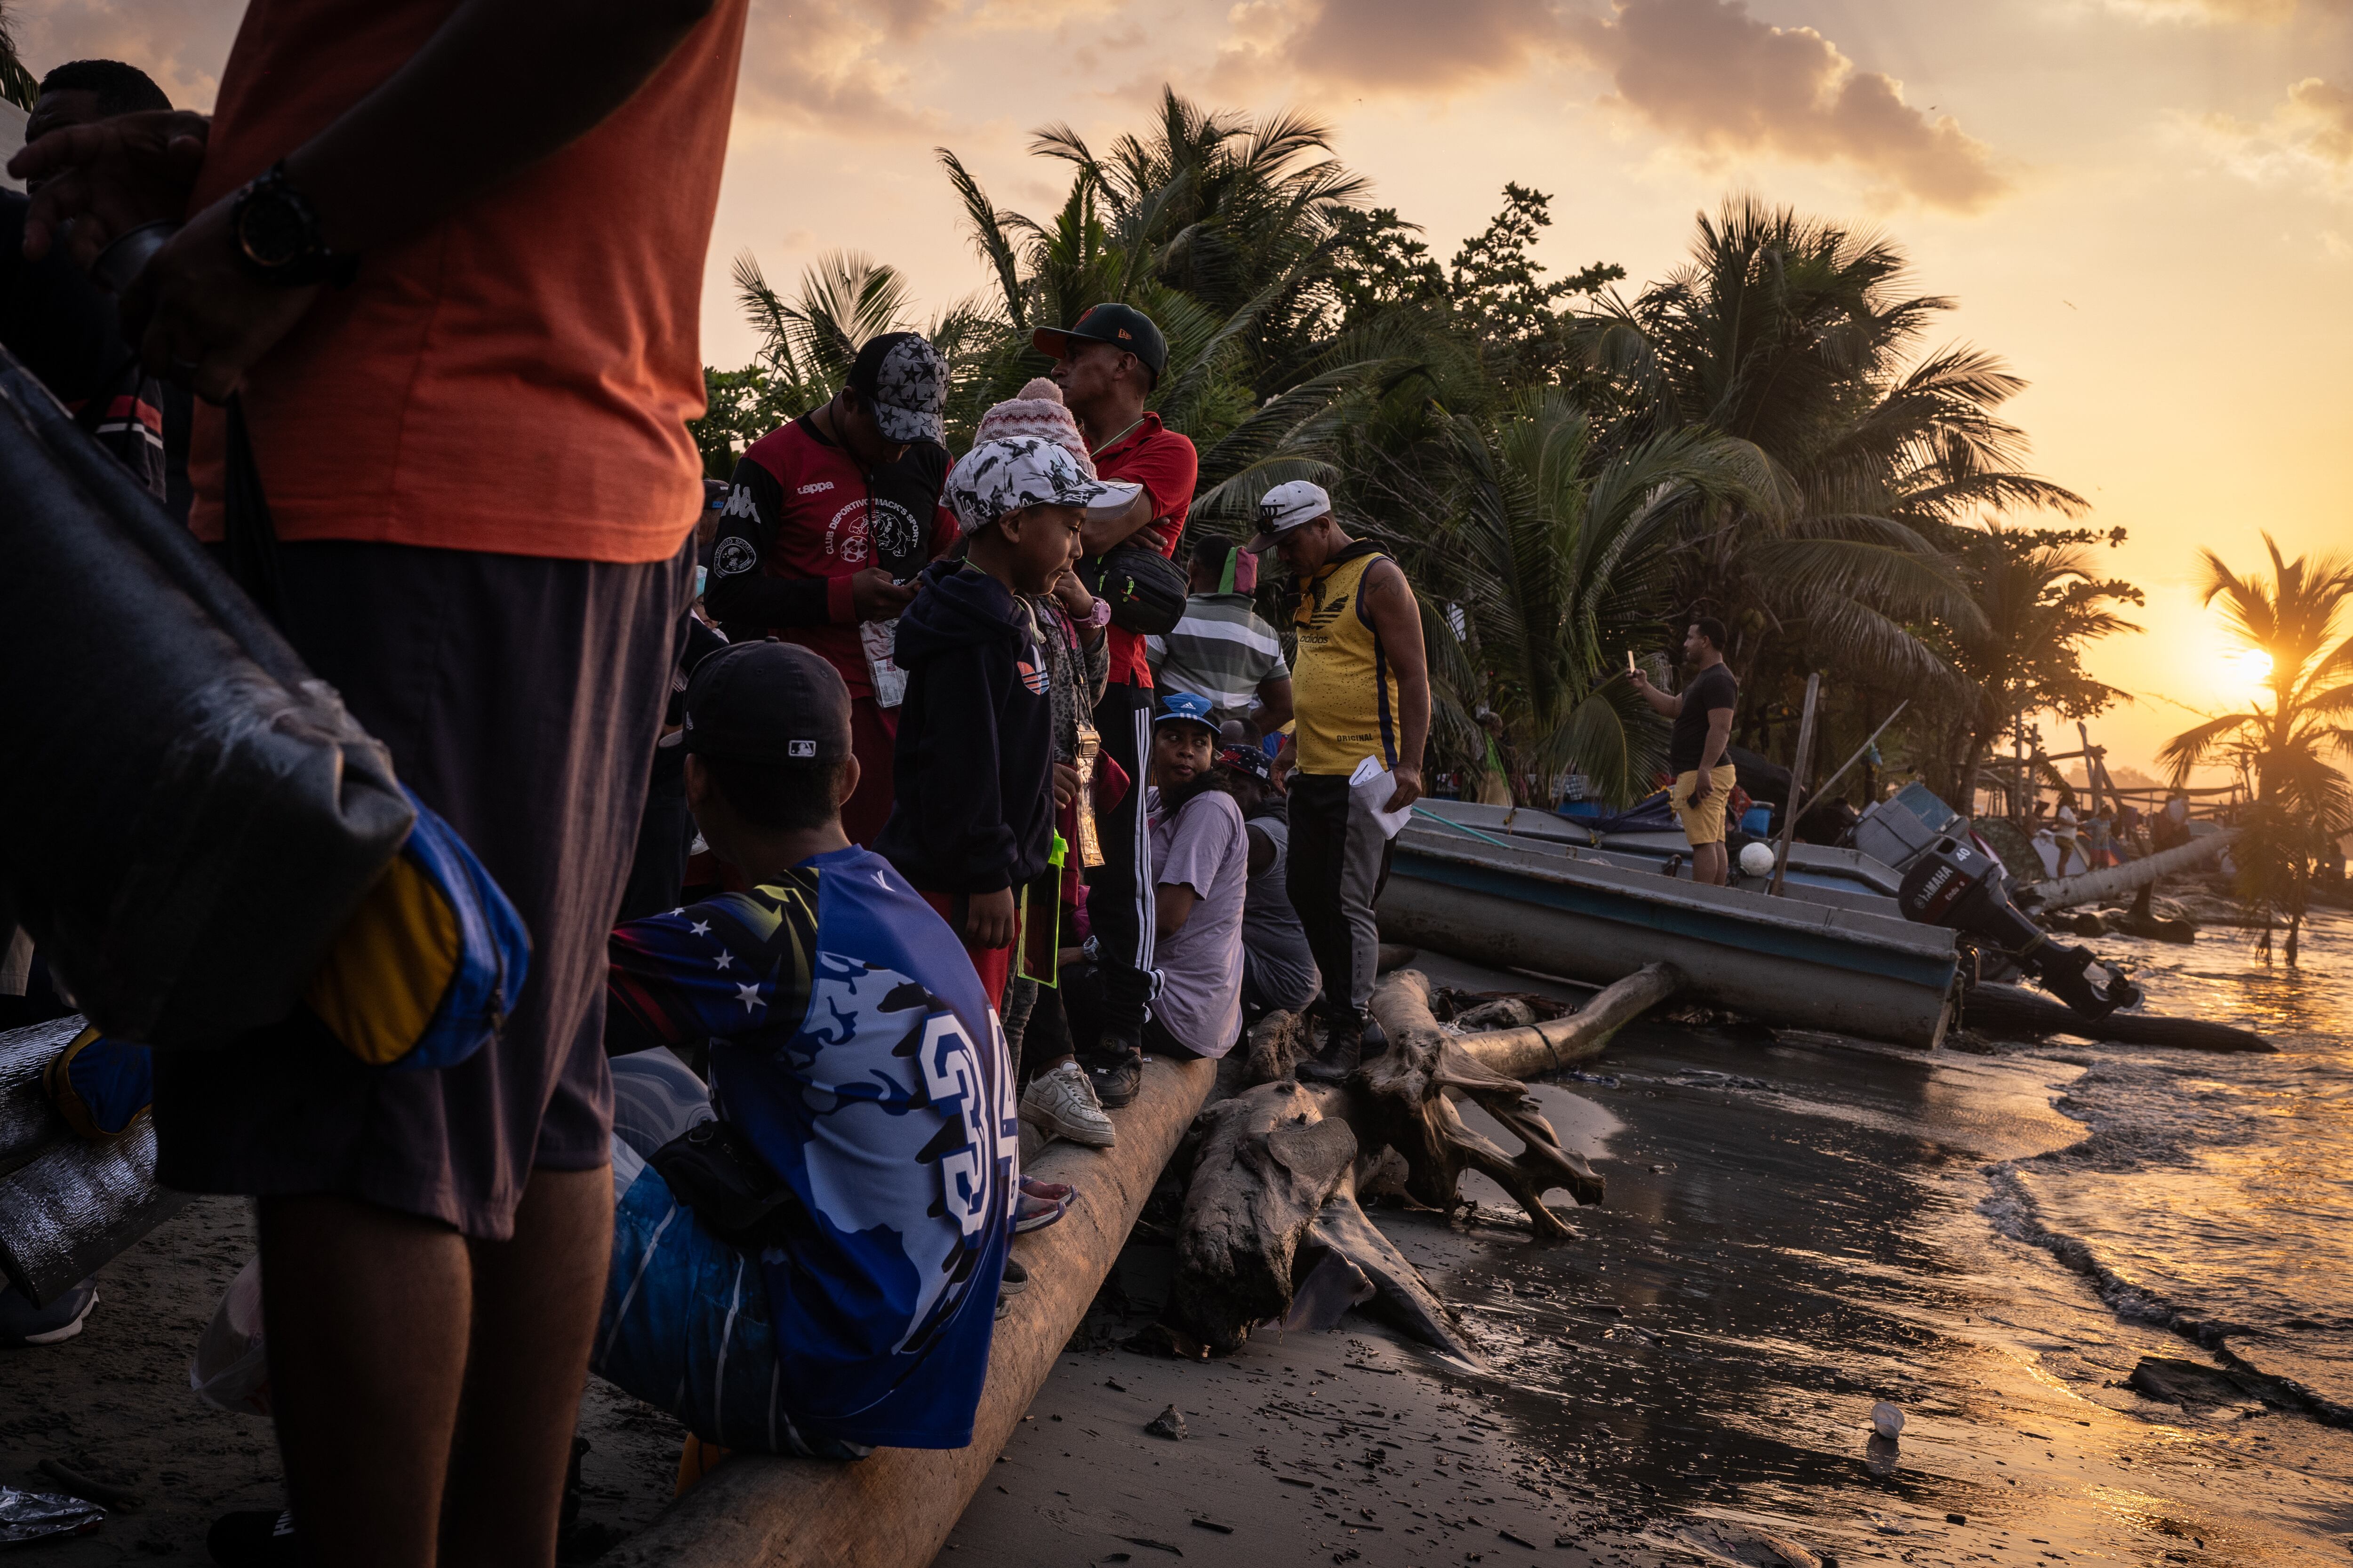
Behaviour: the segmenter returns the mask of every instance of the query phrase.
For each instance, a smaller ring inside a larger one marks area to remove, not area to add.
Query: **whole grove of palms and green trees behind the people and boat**
[[[1271,484],[1311,477],[1421,588],[1440,771],[1482,757],[1494,710],[1525,788],[1577,771],[1642,795],[1664,729],[1614,672],[1673,651],[1692,614],[1732,628],[1739,743],[1786,759],[1793,696],[1831,670],[1821,755],[1911,698],[1882,755],[1955,804],[2024,710],[2120,701],[2078,663],[2139,602],[2089,555],[2120,534],[2021,527],[2087,505],[2026,473],[2002,416],[2024,383],[1934,341],[1953,301],[1913,287],[1894,240],[1732,197],[1682,266],[1631,287],[1605,261],[1553,275],[1553,202],[1511,183],[1440,261],[1327,127],[1174,92],[1104,148],[1042,127],[1031,153],[1068,174],[1049,212],[998,207],[939,150],[984,277],[920,324],[951,360],[951,447],[1047,369],[1031,329],[1139,306],[1169,339],[1155,407],[1202,454],[1193,527],[1240,534]],[[918,327],[864,256],[791,296],[744,256],[736,284],[762,348],[711,371],[720,475],[859,341]]]

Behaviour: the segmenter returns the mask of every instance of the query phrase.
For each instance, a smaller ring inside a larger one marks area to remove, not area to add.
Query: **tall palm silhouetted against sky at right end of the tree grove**
[[[2000,360],[1913,357],[1951,301],[1906,294],[1904,275],[1887,240],[1737,197],[1699,219],[1689,263],[1588,320],[1614,442],[1704,425],[1772,463],[1755,501],[1685,510],[1668,595],[1729,625],[1746,689],[1824,663],[1955,686],[1913,625],[1981,630],[1981,614],[1932,524],[2085,508],[2017,470],[2026,437],[1995,409],[2024,383]]]

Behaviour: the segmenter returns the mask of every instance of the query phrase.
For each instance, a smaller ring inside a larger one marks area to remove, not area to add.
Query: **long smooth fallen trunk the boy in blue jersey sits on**
[[[878,1448],[856,1465],[734,1455],[600,1561],[664,1568],[922,1568],[939,1556],[948,1530],[1078,1331],[1214,1079],[1217,1063],[1153,1060],[1144,1070],[1136,1103],[1118,1114],[1118,1147],[1056,1143],[1031,1164],[1031,1175],[1071,1182],[1078,1197],[1056,1225],[1014,1244],[1031,1286],[998,1321],[972,1446]]]

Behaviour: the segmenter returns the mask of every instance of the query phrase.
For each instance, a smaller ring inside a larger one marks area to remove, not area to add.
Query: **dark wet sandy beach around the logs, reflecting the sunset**
[[[2054,1103],[2115,1063],[1635,1025],[1537,1086],[1609,1182],[1572,1241],[1529,1241],[1480,1178],[1457,1215],[1377,1211],[1485,1368],[1358,1314],[1212,1363],[1122,1349],[1172,1267],[1139,1239],[939,1561],[2334,1559],[2353,1439],[2247,1394],[2125,1387],[2144,1356],[2219,1361],[1988,1213],[2005,1171],[2085,1140]],[[45,1561],[205,1563],[216,1514],[275,1507],[268,1427],[186,1392],[247,1251],[242,1204],[191,1204],[101,1274],[87,1333],[0,1361],[0,1479],[40,1488],[56,1458],[144,1505]],[[1892,1446],[1882,1399],[1906,1415]],[[1169,1406],[1186,1436],[1146,1434]],[[621,1537],[668,1500],[680,1432],[593,1380],[581,1432],[581,1516]]]

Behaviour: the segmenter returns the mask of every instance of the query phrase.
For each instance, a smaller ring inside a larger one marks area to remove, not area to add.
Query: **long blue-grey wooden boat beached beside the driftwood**
[[[1395,842],[1381,938],[1499,969],[1607,985],[1645,964],[1687,976],[1685,997],[1767,1025],[1934,1048],[1953,1020],[1953,931],[1847,907],[1849,893],[1767,898],[1638,870],[1609,844],[1473,837],[1417,818]],[[1487,811],[1499,811],[1489,806]],[[1534,813],[1522,813],[1522,818]],[[1560,820],[1560,818],[1553,818]],[[1574,827],[1562,823],[1562,827]],[[1840,851],[1854,853],[1854,851]]]

